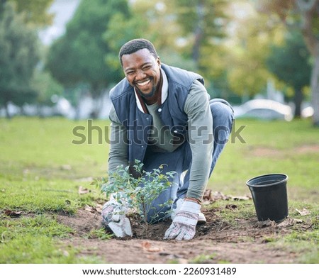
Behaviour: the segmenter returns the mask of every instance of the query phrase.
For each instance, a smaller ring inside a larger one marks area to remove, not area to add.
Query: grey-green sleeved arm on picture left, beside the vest
[[[111,107],[110,152],[108,153],[108,172],[114,172],[119,165],[128,165],[128,138],[126,128],[116,115],[114,106]]]

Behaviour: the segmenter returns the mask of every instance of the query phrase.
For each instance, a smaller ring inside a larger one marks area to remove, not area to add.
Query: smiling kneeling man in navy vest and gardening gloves
[[[208,178],[228,140],[233,109],[221,99],[209,100],[203,77],[162,64],[145,39],[130,40],[119,52],[125,78],[110,92],[112,108],[108,171],[142,161],[145,171],[167,165],[177,185],[154,200],[149,218],[169,199],[172,225],[164,239],[190,240],[198,223],[206,223],[201,201]],[[157,209],[158,208],[158,209]],[[130,235],[127,218],[115,216],[116,201],[102,210],[103,223],[117,236]],[[162,219],[158,219],[159,221]]]

